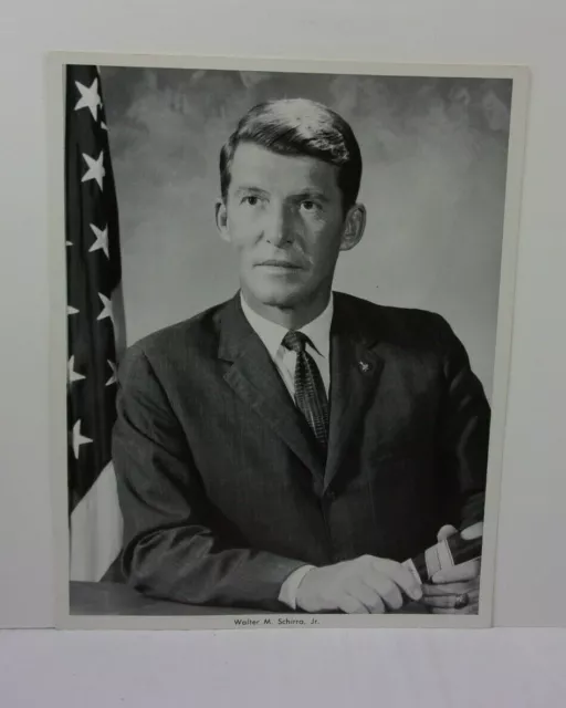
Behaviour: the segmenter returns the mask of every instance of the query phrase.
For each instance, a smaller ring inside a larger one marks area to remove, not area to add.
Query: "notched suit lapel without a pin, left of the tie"
[[[250,326],[238,294],[222,313],[219,357],[232,366],[224,381],[315,475],[324,473],[308,426],[297,412],[275,365]]]

